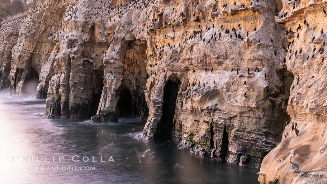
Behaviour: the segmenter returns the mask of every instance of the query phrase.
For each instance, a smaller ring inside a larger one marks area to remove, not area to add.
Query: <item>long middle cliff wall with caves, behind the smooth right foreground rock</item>
[[[129,112],[146,121],[143,140],[258,168],[289,120],[280,9],[270,0],[35,1],[12,51],[10,92],[38,81],[48,117],[104,123]]]

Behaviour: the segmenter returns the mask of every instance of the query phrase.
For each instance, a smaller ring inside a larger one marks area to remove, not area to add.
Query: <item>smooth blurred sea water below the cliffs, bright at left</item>
[[[136,136],[144,124],[137,119],[97,125],[47,119],[36,115],[45,112],[45,100],[7,94],[0,92],[0,183],[259,183],[258,170],[197,158],[169,142],[139,141]],[[19,159],[12,162],[12,155]],[[74,155],[80,161],[72,161]],[[28,162],[22,162],[22,156],[28,156]],[[42,162],[36,162],[37,156]],[[50,162],[44,162],[45,156]],[[64,157],[60,162],[59,156]],[[90,160],[83,162],[84,156]],[[98,162],[92,162],[92,156]],[[100,156],[106,161],[112,156],[114,162],[100,162]],[[32,166],[95,170],[37,171]]]

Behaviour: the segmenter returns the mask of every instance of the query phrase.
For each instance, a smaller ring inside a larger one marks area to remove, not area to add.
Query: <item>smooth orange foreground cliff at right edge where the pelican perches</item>
[[[263,160],[259,181],[326,183],[327,25],[323,9],[326,9],[327,1],[282,3],[283,9],[275,20],[287,29],[288,34],[284,33],[287,40],[283,43],[284,52],[287,51],[286,64],[295,76],[287,107],[291,122],[285,127],[282,142]],[[293,124],[297,124],[298,136],[295,130],[292,131]],[[291,156],[300,170],[291,167]]]

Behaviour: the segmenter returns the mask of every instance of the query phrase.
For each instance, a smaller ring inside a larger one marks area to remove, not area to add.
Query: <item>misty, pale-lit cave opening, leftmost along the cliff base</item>
[[[27,73],[25,77],[25,82],[22,92],[26,95],[35,95],[38,84],[39,84],[39,73],[32,69],[30,72]]]

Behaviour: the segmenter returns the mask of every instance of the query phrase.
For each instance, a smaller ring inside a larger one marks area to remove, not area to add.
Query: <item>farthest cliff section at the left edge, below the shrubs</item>
[[[0,89],[10,86],[11,49],[17,44],[25,16],[2,22],[0,28]]]

